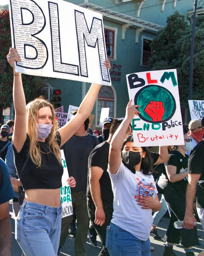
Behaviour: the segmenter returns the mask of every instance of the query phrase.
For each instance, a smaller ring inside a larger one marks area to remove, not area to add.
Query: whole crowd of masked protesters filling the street
[[[20,61],[14,48],[7,58],[13,69]],[[110,69],[109,61],[105,65]],[[21,74],[14,70],[15,121],[0,128],[0,256],[10,255],[10,200],[22,256],[57,256],[68,233],[75,236],[76,256],[87,255],[88,235],[94,247],[99,236],[99,256],[150,256],[149,237],[161,240],[156,227],[167,210],[163,255],[175,256],[173,246],[180,242],[187,256],[195,255],[195,217],[204,228],[204,119],[184,125],[184,145],[139,147],[131,121],[140,106],[130,101],[124,119],[107,117],[101,135],[98,130],[92,135],[89,116],[100,87],[92,84],[70,121],[58,128],[48,101],[26,105]],[[65,218],[60,149],[74,209]],[[184,221],[183,228],[176,229],[175,221]]]

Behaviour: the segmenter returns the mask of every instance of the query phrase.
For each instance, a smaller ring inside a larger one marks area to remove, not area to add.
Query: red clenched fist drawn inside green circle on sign
[[[164,116],[163,102],[149,102],[144,111],[152,118],[153,122],[162,121]]]

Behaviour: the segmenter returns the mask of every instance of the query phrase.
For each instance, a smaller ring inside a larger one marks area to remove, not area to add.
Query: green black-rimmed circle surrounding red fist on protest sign
[[[162,121],[152,121],[152,118],[145,112],[145,108],[150,102],[163,102],[164,116]],[[141,114],[139,117],[151,123],[166,122],[175,113],[176,104],[172,93],[164,87],[158,85],[147,85],[141,88],[135,95],[135,105],[140,105],[139,111]]]

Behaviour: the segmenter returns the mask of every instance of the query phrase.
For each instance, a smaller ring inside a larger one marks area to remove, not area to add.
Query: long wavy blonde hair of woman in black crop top
[[[57,143],[56,133],[55,131],[58,128],[57,120],[55,119],[55,111],[54,107],[51,103],[49,103],[45,99],[34,99],[33,101],[29,102],[27,105],[27,134],[30,139],[30,148],[29,154],[30,157],[37,167],[41,165],[41,152],[40,146],[37,144],[38,135],[37,135],[37,118],[38,118],[38,111],[40,108],[49,107],[52,111],[52,130],[49,136],[46,138],[46,143],[49,150],[55,154],[57,160],[61,164],[61,157],[60,157],[60,147]]]

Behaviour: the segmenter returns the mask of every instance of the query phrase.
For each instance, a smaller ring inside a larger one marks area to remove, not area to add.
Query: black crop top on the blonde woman
[[[57,143],[61,144],[61,137],[57,131]],[[18,177],[23,185],[23,189],[58,189],[62,186],[63,167],[52,152],[49,152],[46,142],[38,141],[41,151],[41,166],[37,166],[32,162],[31,158],[23,171],[21,169],[26,161],[29,152],[30,139],[27,134],[23,148],[17,153],[13,143],[14,163],[17,169]]]

